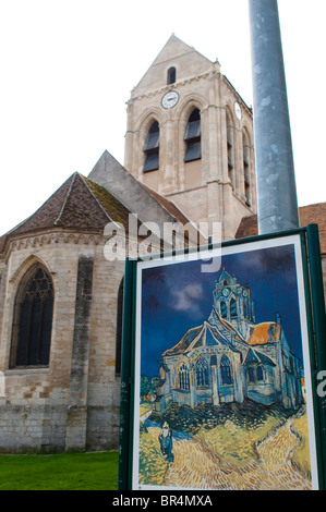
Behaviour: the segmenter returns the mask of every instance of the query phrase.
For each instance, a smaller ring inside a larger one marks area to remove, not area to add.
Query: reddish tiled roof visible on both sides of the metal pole
[[[302,228],[312,223],[318,224],[321,252],[326,254],[326,203],[300,206],[299,218]],[[245,239],[257,234],[257,216],[243,217],[238,227],[236,239]]]

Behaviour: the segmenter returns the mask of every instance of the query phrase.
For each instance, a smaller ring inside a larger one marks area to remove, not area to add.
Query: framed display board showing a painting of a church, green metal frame
[[[120,489],[324,489],[322,290],[315,227],[129,260]]]

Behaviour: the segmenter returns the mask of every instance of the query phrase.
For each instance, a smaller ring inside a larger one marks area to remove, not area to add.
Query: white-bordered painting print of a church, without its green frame
[[[141,273],[138,488],[312,489],[294,244]]]

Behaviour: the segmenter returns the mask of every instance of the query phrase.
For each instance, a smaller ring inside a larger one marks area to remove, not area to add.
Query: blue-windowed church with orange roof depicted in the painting
[[[245,399],[298,409],[303,402],[300,361],[289,348],[280,316],[255,324],[250,288],[226,269],[213,296],[208,319],[162,353],[157,410],[164,412],[173,402],[194,409]]]

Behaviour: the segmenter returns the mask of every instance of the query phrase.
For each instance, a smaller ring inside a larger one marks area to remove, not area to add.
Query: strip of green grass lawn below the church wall
[[[116,490],[118,452],[0,455],[0,490]]]

